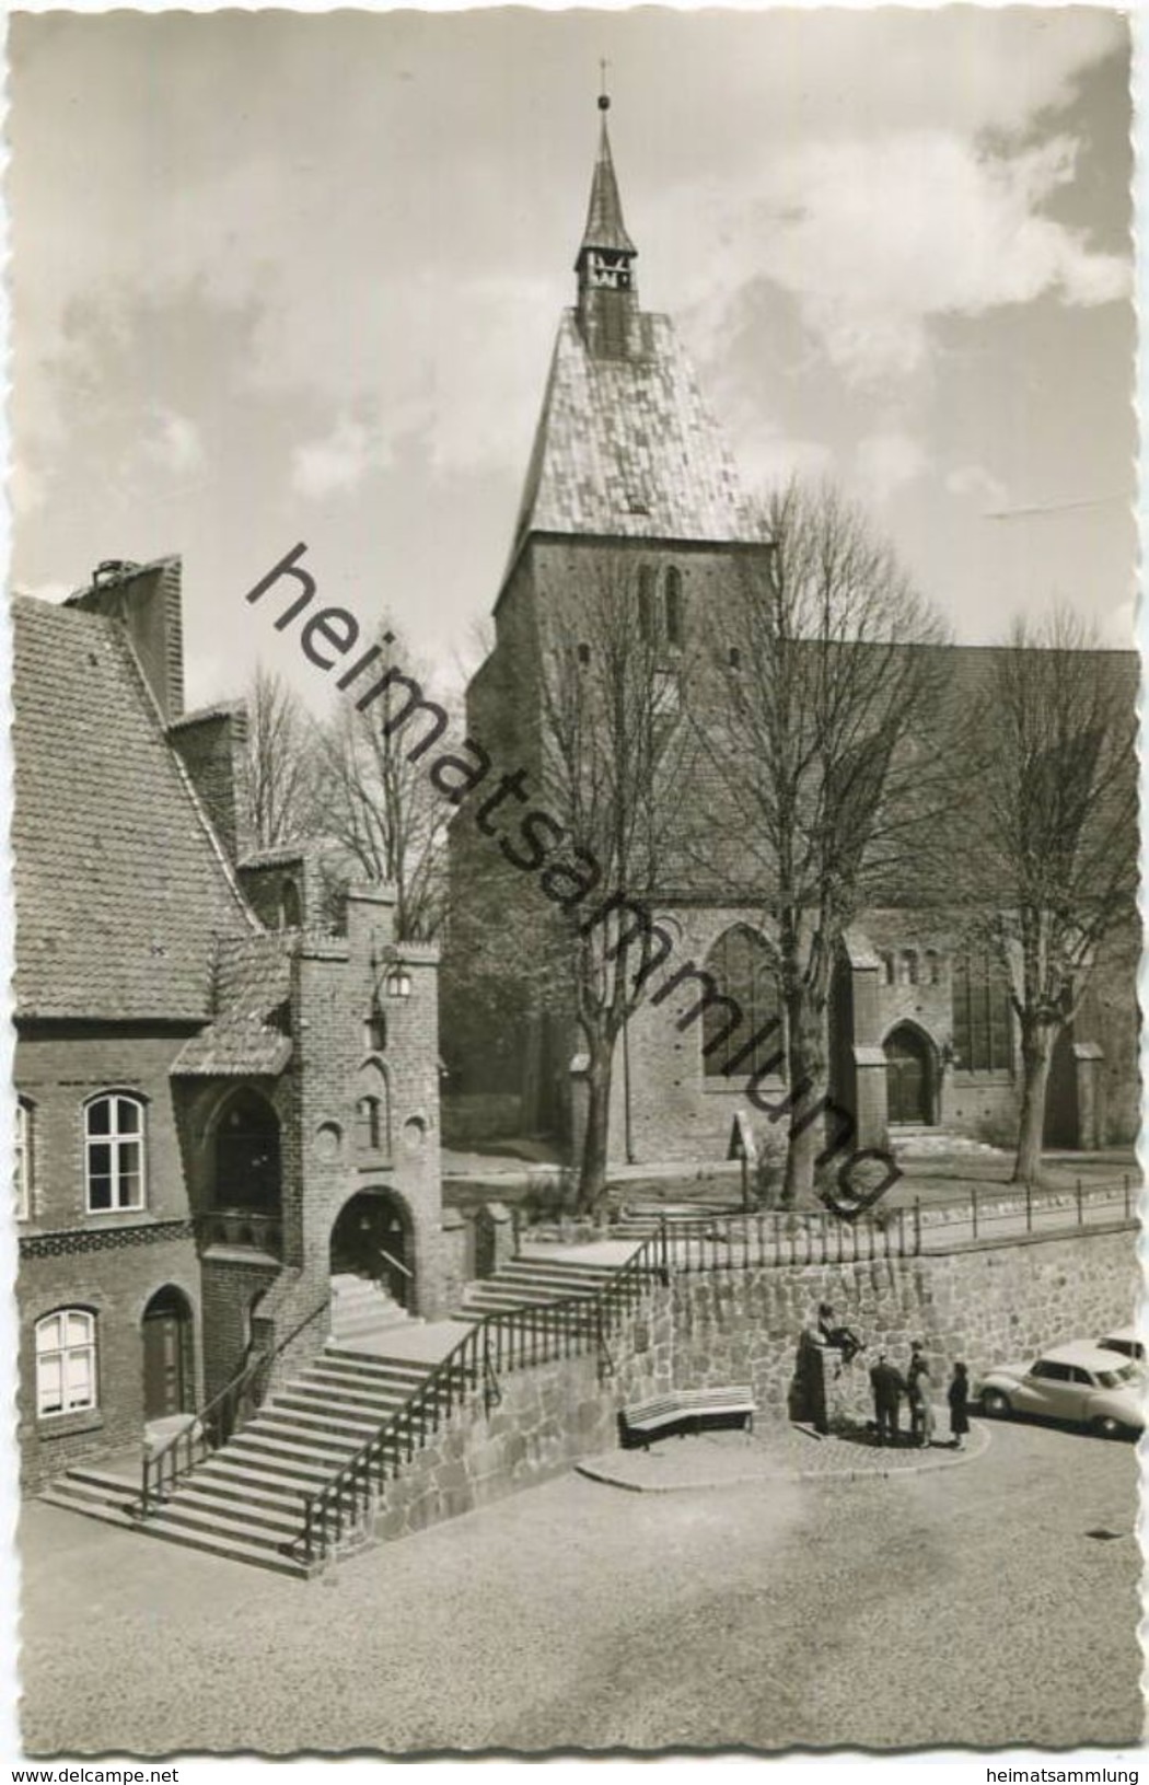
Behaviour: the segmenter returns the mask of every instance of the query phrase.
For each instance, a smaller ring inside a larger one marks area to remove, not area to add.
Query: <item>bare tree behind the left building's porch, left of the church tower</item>
[[[341,702],[319,734],[321,826],[337,846],[343,878],[360,873],[396,891],[396,934],[432,939],[446,900],[444,839],[450,807],[412,759],[410,657],[394,625],[380,623],[376,675],[396,671],[366,710]],[[419,694],[425,685],[419,677]]]

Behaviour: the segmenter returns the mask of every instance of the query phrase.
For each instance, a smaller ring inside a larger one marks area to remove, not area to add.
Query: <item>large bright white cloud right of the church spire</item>
[[[765,175],[748,211],[742,280],[794,295],[806,330],[851,382],[917,371],[930,323],[1053,295],[1124,298],[1124,257],[1042,209],[1074,178],[1078,143],[990,148],[944,130],[808,143]]]

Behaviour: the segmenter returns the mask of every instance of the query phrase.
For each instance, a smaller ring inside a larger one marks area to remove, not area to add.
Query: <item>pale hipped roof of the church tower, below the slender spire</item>
[[[762,537],[671,318],[641,323],[642,355],[594,359],[564,314],[514,553],[528,532]]]

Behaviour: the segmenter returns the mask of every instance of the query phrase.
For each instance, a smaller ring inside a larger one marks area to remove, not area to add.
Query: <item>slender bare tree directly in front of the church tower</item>
[[[696,755],[678,653],[633,557],[587,573],[551,618],[541,666],[541,773],[562,832],[542,878],[564,934],[564,991],[587,1057],[580,1207],[607,1185],[616,1044],[653,966],[649,914],[682,830],[682,784]]]

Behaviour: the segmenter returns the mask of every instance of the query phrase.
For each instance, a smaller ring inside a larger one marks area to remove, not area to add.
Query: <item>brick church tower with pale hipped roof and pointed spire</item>
[[[665,710],[698,710],[703,682],[714,675],[708,634],[735,560],[764,548],[762,525],[674,323],[639,302],[639,250],[623,216],[605,93],[598,111],[574,303],[558,320],[494,603],[496,643],[467,687],[467,734],[507,769],[523,768],[532,789],[541,784],[544,664],[557,637],[576,632],[587,591],[608,585],[619,602],[635,602],[642,635],[658,652]],[[480,903],[478,885],[505,869],[498,843],[476,834],[466,810],[451,825],[450,860],[451,909],[464,914]],[[453,919],[457,971],[448,950],[442,975],[448,1114],[455,1100],[505,1105],[516,1098],[523,1132],[562,1128],[576,1028],[532,1014],[532,962],[514,910],[516,900],[537,903],[541,894],[523,875],[505,871],[503,880],[485,900],[496,917],[475,948],[462,942],[466,917]],[[505,948],[494,953],[510,996],[476,984],[475,969],[476,953],[492,953],[491,930],[503,926]],[[459,1139],[466,1144],[467,1135]]]

